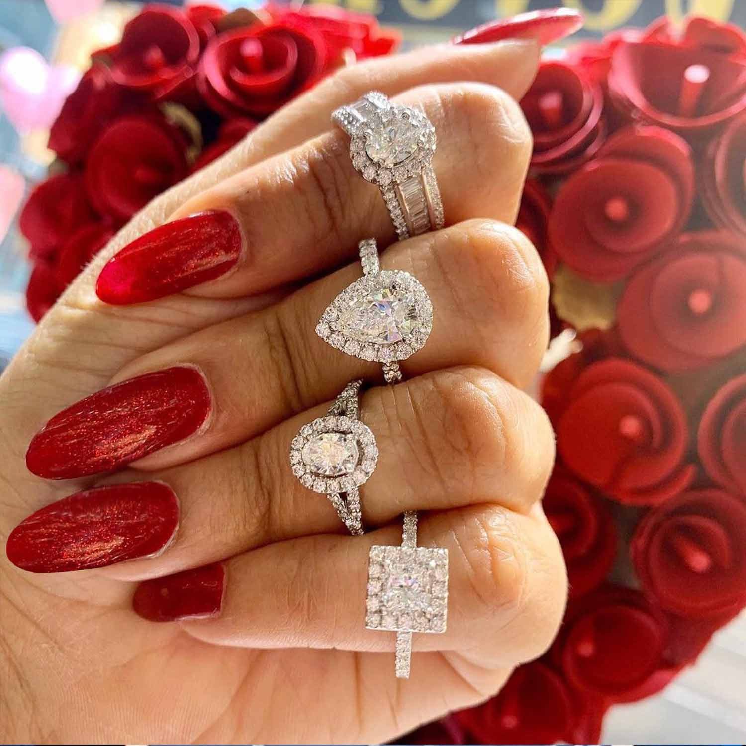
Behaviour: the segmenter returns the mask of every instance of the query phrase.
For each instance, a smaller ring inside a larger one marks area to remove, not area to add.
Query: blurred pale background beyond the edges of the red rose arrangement
[[[163,2],[164,0],[160,0]],[[169,0],[166,0],[169,1]],[[562,0],[336,0],[375,14],[404,34],[404,45],[446,40],[499,16],[554,7]],[[180,5],[181,1],[170,0]],[[228,10],[253,0],[216,2]],[[300,4],[300,3],[295,3]],[[744,28],[746,0],[564,0],[586,14],[581,37],[624,26],[643,27],[668,13],[706,15]],[[28,247],[16,216],[53,154],[48,125],[64,95],[90,65],[91,51],[119,40],[140,9],[116,0],[0,0],[0,370],[34,322],[25,308]],[[576,37],[577,38],[577,37]],[[562,54],[561,48],[549,54]],[[605,742],[743,743],[746,741],[746,619],[721,630],[698,664],[655,698],[617,706],[606,718]]]

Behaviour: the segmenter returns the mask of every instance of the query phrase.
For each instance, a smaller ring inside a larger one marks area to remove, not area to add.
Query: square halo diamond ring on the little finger
[[[417,546],[417,513],[404,513],[401,547],[368,554],[366,629],[396,633],[396,676],[410,677],[413,632],[445,632],[448,549]]]

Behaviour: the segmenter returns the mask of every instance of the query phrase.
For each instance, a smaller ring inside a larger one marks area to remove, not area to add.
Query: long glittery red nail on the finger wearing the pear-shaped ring
[[[197,370],[146,373],[52,417],[31,440],[26,466],[46,479],[113,471],[192,435],[211,408],[210,391]]]

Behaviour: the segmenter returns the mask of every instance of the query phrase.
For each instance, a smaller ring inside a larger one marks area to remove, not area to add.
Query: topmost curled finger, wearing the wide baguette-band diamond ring
[[[438,133],[433,168],[448,224],[474,217],[513,223],[531,154],[513,98],[461,83],[419,87],[401,101],[424,109]],[[172,218],[104,267],[96,283],[102,301],[263,292],[339,265],[360,236],[381,245],[395,239],[378,187],[354,169],[339,130],[239,172]]]

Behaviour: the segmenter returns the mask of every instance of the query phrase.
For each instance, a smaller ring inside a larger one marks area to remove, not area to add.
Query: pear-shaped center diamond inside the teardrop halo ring
[[[339,317],[339,327],[359,342],[399,342],[419,322],[414,296],[382,287],[355,301]]]

